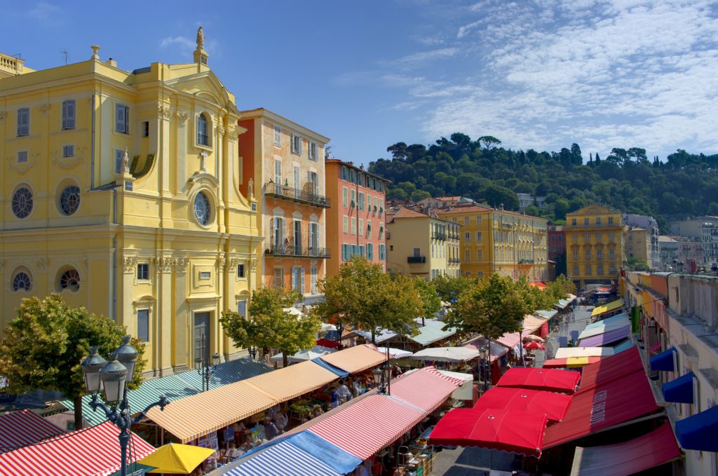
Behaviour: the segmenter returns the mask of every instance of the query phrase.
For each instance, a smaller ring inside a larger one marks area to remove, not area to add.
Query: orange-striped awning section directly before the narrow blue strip
[[[337,378],[337,374],[307,360],[258,375],[247,382],[275,401],[282,402],[323,387]]]

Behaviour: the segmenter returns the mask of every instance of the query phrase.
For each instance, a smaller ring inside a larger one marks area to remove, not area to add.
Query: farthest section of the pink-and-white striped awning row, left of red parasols
[[[444,403],[464,381],[449,377],[433,367],[424,367],[391,382],[391,396],[432,412]]]

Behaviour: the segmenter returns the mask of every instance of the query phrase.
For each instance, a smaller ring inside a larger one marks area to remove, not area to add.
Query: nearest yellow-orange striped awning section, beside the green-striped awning
[[[266,375],[272,374],[274,372]],[[187,443],[276,405],[275,398],[249,383],[254,378],[171,401],[164,411],[154,407],[147,412],[147,417]]]

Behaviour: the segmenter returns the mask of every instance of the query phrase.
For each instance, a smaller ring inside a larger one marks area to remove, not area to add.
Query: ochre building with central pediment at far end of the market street
[[[625,226],[618,210],[588,205],[566,215],[567,271],[579,287],[618,278],[625,261]]]

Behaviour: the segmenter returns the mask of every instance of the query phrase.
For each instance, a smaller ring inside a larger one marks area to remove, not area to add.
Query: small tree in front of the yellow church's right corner
[[[261,287],[252,293],[249,317],[222,312],[220,322],[237,347],[272,347],[281,350],[284,367],[289,355],[314,347],[322,323],[313,314],[297,316],[284,311],[301,298],[295,291]]]

